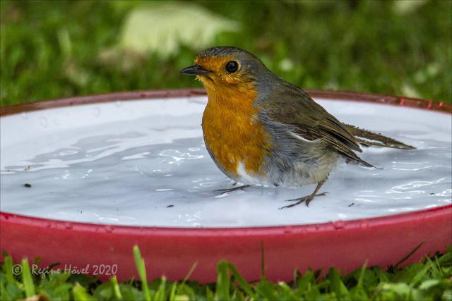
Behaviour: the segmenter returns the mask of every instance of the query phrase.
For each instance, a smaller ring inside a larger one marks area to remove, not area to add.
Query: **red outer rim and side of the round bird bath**
[[[340,101],[371,102],[452,113],[452,106],[424,99],[307,90],[311,96]],[[169,97],[206,95],[203,89],[150,90],[71,97],[0,108],[0,116],[61,106]],[[352,221],[247,228],[165,228],[112,226],[40,219],[0,212],[1,250],[15,261],[42,258],[40,267],[59,262],[54,269],[97,274],[106,280],[138,278],[132,247],[145,258],[148,279],[166,276],[182,280],[196,263],[190,278],[216,280],[216,264],[232,262],[248,281],[261,277],[290,281],[294,269],[336,266],[352,271],[367,266],[415,262],[452,243],[452,205]],[[39,272],[39,271],[38,271]]]

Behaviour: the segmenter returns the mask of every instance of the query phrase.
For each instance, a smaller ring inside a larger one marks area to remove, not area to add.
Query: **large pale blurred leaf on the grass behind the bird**
[[[162,57],[179,52],[180,44],[203,49],[222,31],[235,31],[239,23],[215,15],[196,4],[172,3],[139,6],[126,17],[120,45],[124,49]]]

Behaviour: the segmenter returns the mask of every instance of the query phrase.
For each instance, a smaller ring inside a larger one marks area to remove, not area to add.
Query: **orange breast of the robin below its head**
[[[208,88],[208,87],[206,87]],[[206,147],[227,173],[237,175],[239,164],[246,173],[263,176],[263,157],[268,154],[270,135],[258,120],[254,87],[207,89],[208,104],[203,114]]]

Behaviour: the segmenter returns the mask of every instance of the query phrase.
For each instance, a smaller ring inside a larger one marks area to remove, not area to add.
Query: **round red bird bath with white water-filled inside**
[[[229,259],[261,273],[394,264],[451,243],[450,106],[420,99],[311,91],[340,121],[417,147],[364,148],[381,169],[338,164],[306,207],[278,209],[313,186],[221,193],[229,180],[203,144],[203,90],[126,92],[1,109],[1,249],[42,264],[117,264],[135,275],[215,280]],[[386,104],[386,105],[384,105]],[[388,105],[388,104],[393,104]],[[394,106],[398,105],[398,106]],[[32,243],[32,245],[30,245]],[[102,275],[109,276],[109,275]]]

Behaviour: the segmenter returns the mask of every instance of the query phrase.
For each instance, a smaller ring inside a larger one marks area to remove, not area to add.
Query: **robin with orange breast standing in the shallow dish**
[[[377,146],[415,149],[403,142],[340,122],[301,87],[269,70],[249,51],[212,47],[182,69],[206,89],[202,129],[206,149],[235,184],[299,188],[317,184],[310,195],[289,199],[294,207],[320,193],[340,159],[376,168],[356,152]]]

